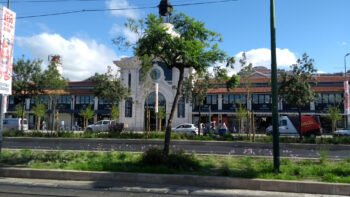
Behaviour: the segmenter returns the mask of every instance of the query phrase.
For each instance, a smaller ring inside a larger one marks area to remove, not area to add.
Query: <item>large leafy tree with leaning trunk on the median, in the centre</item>
[[[167,120],[163,156],[169,154],[170,135],[174,113],[182,95],[185,69],[204,71],[218,61],[226,60],[226,54],[218,47],[221,36],[207,30],[204,23],[185,14],[175,14],[172,24],[164,24],[162,18],[150,14],[140,27],[146,26],[137,41],[134,52],[143,65],[159,60],[168,68],[179,71],[176,94]],[[132,30],[132,29],[131,29]],[[150,61],[151,60],[151,61]]]

